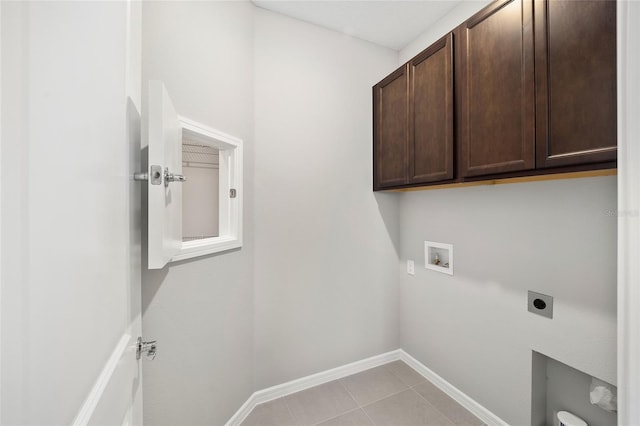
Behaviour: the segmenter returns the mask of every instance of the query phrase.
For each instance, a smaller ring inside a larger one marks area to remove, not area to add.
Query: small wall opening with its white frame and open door
[[[242,247],[242,140],[179,116],[161,81],[147,104],[148,268]]]

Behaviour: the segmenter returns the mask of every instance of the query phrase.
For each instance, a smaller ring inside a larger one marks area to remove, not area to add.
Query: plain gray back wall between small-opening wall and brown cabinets
[[[398,347],[397,198],[371,191],[371,87],[397,53],[261,9],[255,26],[261,389]]]

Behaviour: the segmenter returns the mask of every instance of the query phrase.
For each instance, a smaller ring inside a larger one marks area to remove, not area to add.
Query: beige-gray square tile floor
[[[402,361],[256,406],[242,426],[483,425]]]

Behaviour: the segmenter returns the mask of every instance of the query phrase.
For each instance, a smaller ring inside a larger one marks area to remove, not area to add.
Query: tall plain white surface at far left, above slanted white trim
[[[1,7],[0,422],[71,424],[140,285],[131,22],[125,2]]]

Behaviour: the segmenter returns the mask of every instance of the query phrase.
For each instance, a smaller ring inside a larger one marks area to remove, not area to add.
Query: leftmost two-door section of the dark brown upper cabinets
[[[453,36],[373,87],[374,189],[453,179]]]

